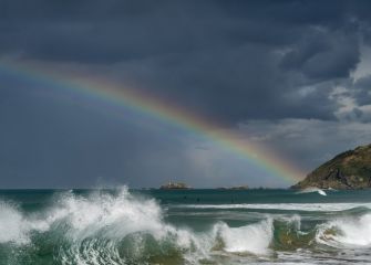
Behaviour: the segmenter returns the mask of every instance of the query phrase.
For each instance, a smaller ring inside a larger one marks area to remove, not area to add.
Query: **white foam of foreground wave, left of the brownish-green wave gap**
[[[130,237],[131,258],[146,256],[145,234],[162,246],[172,244],[189,263],[208,257],[218,240],[224,252],[269,253],[272,237],[272,220],[230,227],[226,223],[215,224],[210,231],[196,233],[175,227],[163,220],[163,211],[155,200],[137,199],[127,189],[118,194],[95,193],[89,197],[66,192],[55,199],[54,204],[32,215],[10,203],[0,203],[0,243],[28,244],[32,232],[61,230],[61,264],[124,264],[125,256],[120,245]]]

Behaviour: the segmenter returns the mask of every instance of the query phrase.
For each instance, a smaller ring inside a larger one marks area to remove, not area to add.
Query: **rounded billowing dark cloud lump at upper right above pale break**
[[[282,66],[313,80],[347,77],[359,62],[358,39],[357,31],[313,29],[293,44],[284,56]]]

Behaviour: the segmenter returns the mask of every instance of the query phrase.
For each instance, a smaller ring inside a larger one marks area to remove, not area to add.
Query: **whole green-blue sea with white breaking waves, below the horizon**
[[[371,264],[371,191],[2,190],[0,264]]]

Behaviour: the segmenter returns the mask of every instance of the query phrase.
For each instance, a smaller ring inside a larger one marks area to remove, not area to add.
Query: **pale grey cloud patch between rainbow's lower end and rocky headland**
[[[248,139],[279,150],[307,172],[339,152],[371,142],[371,124],[362,121],[249,120],[239,127]]]

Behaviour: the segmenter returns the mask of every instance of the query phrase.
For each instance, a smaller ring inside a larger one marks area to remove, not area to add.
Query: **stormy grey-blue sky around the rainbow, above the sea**
[[[48,75],[189,110],[305,176],[371,142],[370,13],[370,1],[341,0],[0,0],[0,187],[293,184],[205,135]]]

